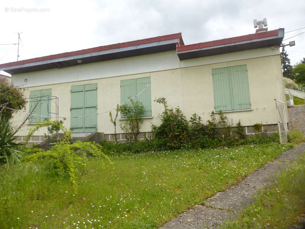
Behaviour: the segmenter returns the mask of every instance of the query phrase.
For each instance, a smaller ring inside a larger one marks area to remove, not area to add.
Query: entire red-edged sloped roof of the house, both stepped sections
[[[186,60],[276,46],[282,43],[283,38],[284,29],[279,28],[272,31],[264,31],[238,37],[184,45],[181,33],[175,33],[0,64],[0,70],[6,71],[9,74],[19,74],[52,68],[70,67],[105,60],[114,60],[131,56],[140,56],[151,53],[166,52],[175,49],[177,50],[179,59]]]

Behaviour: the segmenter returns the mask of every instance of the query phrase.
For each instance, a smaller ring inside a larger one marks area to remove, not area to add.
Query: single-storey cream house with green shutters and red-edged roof
[[[32,98],[27,111],[38,104],[32,113],[40,116],[30,117],[18,133],[20,141],[27,128],[49,116],[66,117],[64,124],[74,136],[102,132],[111,140],[108,111],[134,96],[145,106],[140,131],[147,135],[151,122],[160,124],[164,107],[154,102],[158,97],[179,106],[188,119],[196,112],[206,121],[211,111],[223,111],[233,122],[241,120],[249,134],[260,122],[277,130],[274,99],[286,103],[279,50],[283,38],[279,28],[185,45],[177,33],[0,64],[0,70],[27,88],[25,95]],[[23,117],[18,113],[14,121]],[[287,111],[286,117],[288,122]],[[118,119],[118,139],[124,140],[119,126],[124,117]],[[38,131],[31,142],[43,140],[46,131]]]

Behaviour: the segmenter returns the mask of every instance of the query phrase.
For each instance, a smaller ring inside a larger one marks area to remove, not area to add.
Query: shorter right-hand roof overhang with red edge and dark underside
[[[180,60],[281,45],[284,29],[177,47]]]

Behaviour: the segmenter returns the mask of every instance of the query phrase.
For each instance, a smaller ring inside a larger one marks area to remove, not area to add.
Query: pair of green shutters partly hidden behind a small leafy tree
[[[130,98],[142,102],[145,112],[142,117],[152,116],[150,77],[121,80],[121,104],[130,104]],[[139,94],[140,93],[140,94]],[[121,118],[126,118],[121,115]]]

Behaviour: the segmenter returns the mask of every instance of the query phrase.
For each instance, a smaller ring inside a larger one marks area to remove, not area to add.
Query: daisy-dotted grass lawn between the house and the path
[[[36,166],[0,168],[0,228],[156,228],[242,180],[285,147],[146,152],[88,160],[77,178]]]

